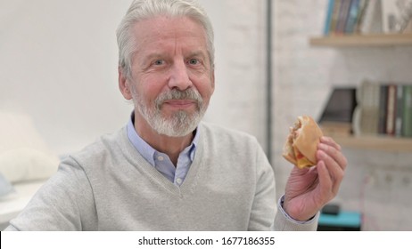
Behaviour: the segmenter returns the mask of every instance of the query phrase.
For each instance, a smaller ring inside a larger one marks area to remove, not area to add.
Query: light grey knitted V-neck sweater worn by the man
[[[62,161],[8,230],[316,229],[276,214],[274,173],[245,133],[200,124],[183,184],[166,179],[126,128]],[[275,219],[276,216],[276,219]]]

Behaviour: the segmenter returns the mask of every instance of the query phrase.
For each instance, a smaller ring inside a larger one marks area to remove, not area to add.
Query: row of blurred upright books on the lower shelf
[[[412,137],[412,84],[363,81],[352,118],[357,135]]]

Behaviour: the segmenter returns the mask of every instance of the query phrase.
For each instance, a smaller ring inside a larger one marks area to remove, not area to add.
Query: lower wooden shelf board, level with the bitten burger
[[[390,136],[332,136],[342,147],[376,149],[389,152],[412,152],[411,138]]]

